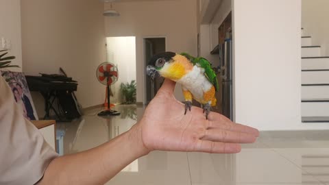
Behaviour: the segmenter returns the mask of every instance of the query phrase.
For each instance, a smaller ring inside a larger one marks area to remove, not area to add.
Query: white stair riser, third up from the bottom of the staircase
[[[302,71],[302,84],[329,84],[329,71]]]

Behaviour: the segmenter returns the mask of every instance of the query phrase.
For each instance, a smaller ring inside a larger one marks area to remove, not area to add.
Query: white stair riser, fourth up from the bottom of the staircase
[[[302,58],[302,70],[329,69],[329,57]]]

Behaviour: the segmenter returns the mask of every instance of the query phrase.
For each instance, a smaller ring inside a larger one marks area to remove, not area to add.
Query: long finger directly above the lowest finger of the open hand
[[[254,143],[256,136],[243,132],[231,132],[228,130],[210,129],[206,130],[202,140],[219,141],[223,143]]]

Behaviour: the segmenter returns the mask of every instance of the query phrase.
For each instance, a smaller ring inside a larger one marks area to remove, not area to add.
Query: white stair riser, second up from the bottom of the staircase
[[[302,99],[329,99],[329,86],[302,86]]]

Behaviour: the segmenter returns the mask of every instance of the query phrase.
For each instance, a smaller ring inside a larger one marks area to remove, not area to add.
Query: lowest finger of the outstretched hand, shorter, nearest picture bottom
[[[195,151],[207,153],[239,153],[241,145],[237,143],[221,143],[210,140],[199,140]]]

